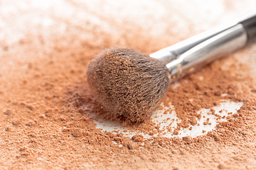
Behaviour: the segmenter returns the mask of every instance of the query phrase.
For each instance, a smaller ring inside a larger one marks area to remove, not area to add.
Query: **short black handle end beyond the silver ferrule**
[[[256,39],[256,13],[243,18],[240,23],[245,28],[247,33],[247,43]]]

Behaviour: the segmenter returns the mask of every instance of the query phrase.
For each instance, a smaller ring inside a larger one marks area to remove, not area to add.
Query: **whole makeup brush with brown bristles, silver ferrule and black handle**
[[[151,55],[114,47],[90,62],[87,81],[92,94],[114,118],[141,123],[159,107],[171,82],[245,47],[255,38],[256,14]]]

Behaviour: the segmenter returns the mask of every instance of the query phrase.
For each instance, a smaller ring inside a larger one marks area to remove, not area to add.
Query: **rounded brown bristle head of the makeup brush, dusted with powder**
[[[141,123],[156,111],[164,97],[169,71],[149,55],[116,47],[90,62],[87,80],[99,102],[113,116]]]

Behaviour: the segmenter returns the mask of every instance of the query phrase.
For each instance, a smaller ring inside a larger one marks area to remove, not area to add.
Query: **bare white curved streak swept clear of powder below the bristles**
[[[164,111],[168,110],[168,108],[174,108],[174,106],[165,106],[164,110],[157,111],[154,114],[153,122],[156,123],[156,125],[160,126],[160,130],[163,130],[163,132],[158,133],[154,136],[161,136],[161,137],[197,137],[200,135],[206,135],[207,132],[210,132],[211,130],[214,130],[216,125],[220,122],[226,122],[227,119],[223,118],[223,116],[228,116],[228,113],[232,113],[230,115],[233,115],[234,113],[237,113],[237,111],[241,108],[242,102],[235,103],[233,101],[223,101],[220,103],[219,106],[213,107],[213,110],[215,111],[215,114],[220,115],[221,118],[217,120],[217,116],[211,114],[210,109],[201,109],[201,111],[198,111],[200,113],[201,119],[198,120],[198,125],[191,125],[192,130],[189,130],[188,128],[183,128],[179,130],[178,135],[173,135],[174,129],[177,127],[177,123],[180,123],[181,120],[178,119],[176,112],[172,111],[171,113],[163,114]],[[172,109],[174,110],[174,109]],[[206,122],[207,118],[209,118],[209,123],[211,125],[203,125],[204,122]],[[134,130],[129,130],[129,128],[124,128],[122,125],[118,123],[114,123],[109,120],[94,120],[96,123],[96,128],[107,131],[107,132],[122,132],[127,137],[132,137],[135,134],[143,135],[146,138],[150,138],[151,136],[148,134],[144,134],[141,132],[136,132]],[[169,128],[170,130],[166,130],[166,128]],[[203,130],[205,132],[203,133]]]

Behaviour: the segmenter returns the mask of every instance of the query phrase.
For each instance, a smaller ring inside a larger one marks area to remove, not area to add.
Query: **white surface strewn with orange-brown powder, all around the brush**
[[[181,120],[175,134],[198,123],[203,108],[243,103],[193,138],[154,137],[152,120],[132,127],[149,139],[102,132],[92,115],[104,111],[85,74],[106,47],[149,54],[252,11],[255,1],[116,3],[0,1],[0,169],[256,169],[255,45],[170,86],[164,106]]]

